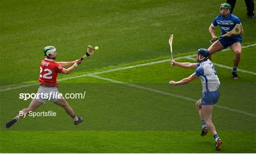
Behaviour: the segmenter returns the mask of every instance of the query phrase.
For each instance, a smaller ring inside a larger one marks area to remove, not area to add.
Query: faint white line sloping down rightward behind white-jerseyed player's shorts
[[[125,85],[127,85],[129,87],[135,87],[135,88],[143,89],[143,90],[146,90],[146,91],[152,91],[152,92],[160,93],[160,94],[163,94],[163,95],[177,97],[177,98],[180,98],[180,99],[183,99],[183,100],[190,100],[190,101],[193,101],[193,102],[197,101],[197,100],[194,100],[194,99],[191,99],[191,98],[188,98],[188,97],[184,97],[184,96],[181,96],[181,95],[176,95],[176,94],[168,93],[168,92],[165,92],[165,91],[159,91],[159,90],[155,90],[155,89],[152,89],[152,88],[143,87],[143,86],[140,86],[140,85],[137,85],[137,84],[120,82],[120,81],[109,79],[109,78],[103,78],[103,77],[100,77],[100,76],[97,76],[97,75],[90,75],[90,76],[94,77],[94,78],[97,78],[97,79],[110,81],[110,82],[113,82],[113,83],[125,84]],[[245,111],[240,111],[240,110],[237,110],[237,109],[231,109],[231,108],[223,107],[223,106],[220,106],[220,105],[217,105],[217,104],[214,105],[214,106],[217,107],[217,108],[220,108],[220,109],[226,109],[226,110],[229,110],[229,111],[233,111],[233,112],[245,114],[245,115],[248,115],[248,116],[256,117],[255,114],[247,113]]]

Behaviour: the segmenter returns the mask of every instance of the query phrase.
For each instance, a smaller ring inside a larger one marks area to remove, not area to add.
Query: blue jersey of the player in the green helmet
[[[229,13],[228,16],[225,18],[222,17],[221,15],[216,17],[212,21],[211,26],[216,27],[219,25],[219,27],[221,28],[221,35],[224,35],[227,32],[231,31],[236,26],[236,24],[242,25],[240,19],[237,16]],[[242,41],[242,37],[240,35],[230,36],[230,38],[234,38]]]

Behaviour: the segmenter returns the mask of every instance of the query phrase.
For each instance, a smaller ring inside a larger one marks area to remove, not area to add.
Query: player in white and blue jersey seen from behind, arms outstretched
[[[212,64],[212,62],[208,59],[209,51],[207,49],[199,49],[197,51],[196,60],[199,63],[179,63],[174,60],[171,61],[171,65],[173,66],[181,66],[184,68],[196,68],[196,71],[191,74],[189,77],[184,78],[181,81],[174,82],[170,81],[170,85],[180,85],[191,82],[192,80],[199,77],[202,83],[202,95],[201,99],[196,102],[196,108],[199,112],[199,116],[202,121],[202,133],[201,136],[207,135],[208,128],[210,133],[215,138],[216,142],[216,150],[220,150],[220,146],[222,144],[222,140],[219,138],[215,126],[211,121],[212,109],[213,105],[219,100],[219,78],[217,76],[217,72]]]

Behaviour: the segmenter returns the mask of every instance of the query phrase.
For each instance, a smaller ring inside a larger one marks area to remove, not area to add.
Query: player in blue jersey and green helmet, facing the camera
[[[209,27],[210,34],[212,36],[212,39],[217,40],[217,36],[214,33],[214,28],[216,26],[219,25],[219,27],[221,28],[221,35],[224,35],[226,33],[229,33],[229,31],[231,31],[236,24],[241,25],[240,34],[237,36],[228,35],[226,37],[220,38],[219,40],[214,42],[212,45],[210,45],[208,50],[210,54],[214,54],[230,46],[231,50],[235,54],[234,61],[233,61],[233,70],[231,72],[231,75],[234,79],[238,79],[237,68],[241,59],[241,52],[242,52],[241,35],[244,33],[244,30],[243,30],[240,19],[237,16],[229,13],[230,9],[231,9],[231,6],[228,3],[224,3],[220,5],[220,15],[216,17],[211,23]],[[209,56],[209,59],[211,59],[211,56]]]

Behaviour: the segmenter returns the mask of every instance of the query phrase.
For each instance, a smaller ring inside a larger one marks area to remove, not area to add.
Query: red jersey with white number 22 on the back
[[[51,59],[44,59],[40,63],[39,83],[50,87],[58,87],[57,75],[62,72],[63,67]]]

